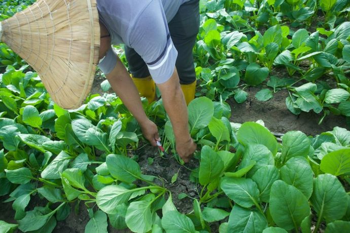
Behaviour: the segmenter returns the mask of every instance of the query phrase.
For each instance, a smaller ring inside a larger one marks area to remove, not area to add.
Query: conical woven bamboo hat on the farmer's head
[[[0,41],[38,72],[53,101],[78,108],[98,64],[96,0],[38,0],[0,22]]]

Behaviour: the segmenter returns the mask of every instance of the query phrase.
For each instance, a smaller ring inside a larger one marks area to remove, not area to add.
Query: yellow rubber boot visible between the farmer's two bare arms
[[[152,103],[156,97],[156,85],[152,77],[131,77],[131,79],[134,82],[140,96],[146,97],[148,103]]]

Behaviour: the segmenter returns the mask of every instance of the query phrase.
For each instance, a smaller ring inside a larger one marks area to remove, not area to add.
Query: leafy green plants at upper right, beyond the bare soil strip
[[[242,103],[248,97],[244,89],[268,81],[273,92],[289,91],[286,104],[294,114],[313,110],[323,111],[323,118],[330,112],[349,117],[348,1],[201,3],[194,48],[201,94]],[[281,76],[283,70],[289,75]],[[300,90],[297,84],[307,85]],[[263,89],[257,98],[266,101],[273,92]]]

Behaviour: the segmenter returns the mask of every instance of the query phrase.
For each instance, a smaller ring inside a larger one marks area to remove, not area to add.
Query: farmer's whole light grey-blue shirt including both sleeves
[[[172,44],[167,23],[189,0],[97,0],[100,21],[111,35],[111,44],[133,48],[147,64],[155,83],[172,75],[178,52]],[[99,63],[110,73],[117,62],[111,48]]]

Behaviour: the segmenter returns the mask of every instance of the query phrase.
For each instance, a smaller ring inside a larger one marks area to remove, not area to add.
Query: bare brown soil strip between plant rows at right
[[[317,114],[313,111],[302,112],[294,115],[286,106],[287,90],[281,90],[273,94],[273,98],[262,102],[255,98],[255,94],[261,88],[251,87],[247,90],[249,96],[246,102],[236,103],[230,99],[227,102],[231,106],[231,122],[244,123],[248,121],[262,120],[265,126],[272,132],[286,133],[291,130],[299,130],[306,135],[318,135],[322,132],[332,131],[334,127],[349,129],[346,124],[346,118],[343,116],[328,115],[319,125],[323,114]]]

